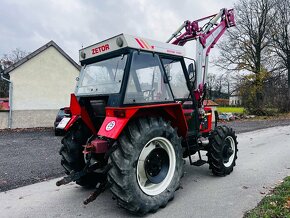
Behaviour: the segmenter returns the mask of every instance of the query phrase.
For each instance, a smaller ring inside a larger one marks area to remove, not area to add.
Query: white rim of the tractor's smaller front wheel
[[[232,165],[236,154],[235,140],[232,136],[227,136],[225,138],[224,148],[223,148],[223,164],[225,167]]]

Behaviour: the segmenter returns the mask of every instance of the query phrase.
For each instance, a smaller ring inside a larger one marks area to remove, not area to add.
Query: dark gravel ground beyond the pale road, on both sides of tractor
[[[237,133],[290,125],[284,120],[245,120],[220,123]],[[64,175],[58,151],[62,137],[52,129],[0,131],[0,192]]]

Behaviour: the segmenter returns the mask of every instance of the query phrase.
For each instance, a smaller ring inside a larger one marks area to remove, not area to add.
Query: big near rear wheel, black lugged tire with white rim
[[[183,174],[181,140],[161,118],[131,121],[111,154],[110,189],[134,214],[155,212],[173,199]]]

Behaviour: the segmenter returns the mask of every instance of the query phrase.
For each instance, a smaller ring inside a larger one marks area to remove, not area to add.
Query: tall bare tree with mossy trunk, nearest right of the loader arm
[[[265,72],[272,72],[270,30],[273,27],[273,0],[239,0],[235,5],[236,28],[228,31],[219,48],[216,65],[227,71],[252,73],[255,86],[253,105],[263,110],[263,83]],[[270,63],[270,64],[269,64]],[[263,75],[261,75],[263,74]]]

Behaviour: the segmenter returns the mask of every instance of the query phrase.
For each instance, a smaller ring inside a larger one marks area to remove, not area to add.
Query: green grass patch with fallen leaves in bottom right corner
[[[244,216],[244,218],[260,217],[290,217],[290,176]]]

